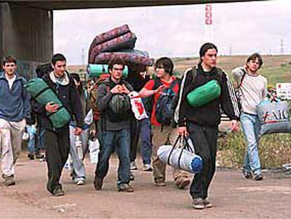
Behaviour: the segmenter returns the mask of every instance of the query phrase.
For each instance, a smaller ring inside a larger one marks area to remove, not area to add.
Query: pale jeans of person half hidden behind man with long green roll
[[[72,157],[72,171],[75,178],[75,182],[78,180],[85,180],[85,166],[83,159],[80,159],[77,154],[76,148],[76,135],[74,134],[75,127],[70,125],[70,155]],[[89,129],[83,130],[82,132],[82,148],[83,155],[86,153],[88,139],[89,139]],[[84,157],[84,156],[83,156]]]

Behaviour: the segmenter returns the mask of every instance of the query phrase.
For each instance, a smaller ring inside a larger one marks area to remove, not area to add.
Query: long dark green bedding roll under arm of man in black
[[[58,104],[60,106],[56,113],[46,112],[46,115],[49,120],[51,120],[53,127],[64,127],[70,122],[70,113],[58,99],[56,93],[53,92],[44,80],[41,78],[34,78],[25,85],[25,88],[39,104],[46,105],[48,102],[54,102],[54,104]]]

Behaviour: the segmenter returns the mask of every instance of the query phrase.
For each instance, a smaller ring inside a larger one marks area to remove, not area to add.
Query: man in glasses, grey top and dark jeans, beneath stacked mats
[[[134,192],[129,184],[130,177],[130,120],[129,94],[131,85],[122,79],[124,62],[112,59],[108,64],[110,77],[101,82],[97,90],[96,106],[101,111],[101,151],[95,171],[94,187],[102,189],[103,179],[108,173],[109,159],[113,151],[119,158],[117,189],[119,192]]]

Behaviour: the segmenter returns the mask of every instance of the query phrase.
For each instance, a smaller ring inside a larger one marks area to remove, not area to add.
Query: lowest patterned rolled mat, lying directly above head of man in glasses
[[[108,63],[112,58],[120,58],[127,65],[129,63],[152,66],[154,63],[153,58],[148,58],[145,56],[140,56],[135,53],[130,52],[102,52],[95,57],[94,63]]]

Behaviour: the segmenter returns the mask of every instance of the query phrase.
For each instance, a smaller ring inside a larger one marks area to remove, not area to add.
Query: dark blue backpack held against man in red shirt
[[[179,80],[174,80],[170,87],[162,90],[162,94],[160,94],[159,98],[157,99],[155,118],[157,119],[157,122],[161,123],[162,125],[171,125],[172,123],[172,118],[174,115],[174,108],[172,105],[176,97],[173,88],[178,82]]]

